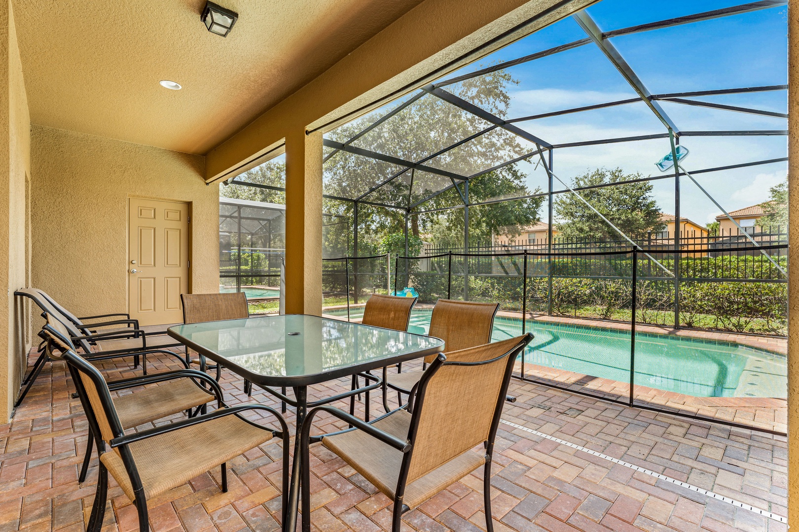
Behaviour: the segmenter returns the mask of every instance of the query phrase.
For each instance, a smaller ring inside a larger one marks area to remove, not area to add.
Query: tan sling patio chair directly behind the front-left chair
[[[70,340],[70,333],[60,321],[49,314],[46,315],[46,320],[46,325],[39,333],[39,336],[45,340],[45,352],[51,361],[62,361],[63,358],[58,353],[64,353],[70,349],[75,350],[75,346]],[[210,388],[201,387],[197,384],[198,380],[209,384]],[[191,369],[113,380],[107,384],[109,390],[114,392],[157,383],[162,384],[112,399],[122,428],[138,427],[179,412],[187,412],[189,417],[196,416],[200,412],[201,406],[205,406],[212,400],[217,400],[217,408],[221,408],[224,404],[222,388],[217,381],[205,373]],[[191,412],[192,408],[196,408],[193,413]],[[93,435],[89,430],[83,465],[80,475],[78,475],[80,483],[86,479],[92,446],[98,437],[99,435]],[[97,448],[100,448],[99,441],[97,441]]]

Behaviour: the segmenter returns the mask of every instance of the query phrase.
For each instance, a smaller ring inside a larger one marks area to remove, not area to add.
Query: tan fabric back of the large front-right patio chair
[[[480,443],[493,444],[516,357],[532,338],[527,333],[437,355],[419,380],[408,432],[413,447],[401,470],[407,470],[405,482]]]

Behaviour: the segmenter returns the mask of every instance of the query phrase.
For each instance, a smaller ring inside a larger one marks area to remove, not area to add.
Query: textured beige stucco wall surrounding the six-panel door
[[[219,187],[181,152],[31,126],[32,286],[80,315],[127,312],[128,198],[191,203],[190,289],[219,290]]]

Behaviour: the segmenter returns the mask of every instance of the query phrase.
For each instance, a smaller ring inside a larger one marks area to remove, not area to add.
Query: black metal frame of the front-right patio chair
[[[505,403],[505,397],[507,395],[507,388],[508,384],[511,382],[511,373],[513,372],[513,366],[516,361],[516,357],[519,353],[522,352],[523,349],[527,347],[527,345],[532,341],[533,335],[531,333],[527,333],[524,335],[524,340],[519,344],[516,345],[511,351],[504,353],[499,357],[492,358],[488,361],[479,361],[479,362],[447,362],[447,357],[443,353],[440,353],[438,357],[435,357],[435,361],[431,363],[431,365],[424,371],[419,383],[414,387],[415,389],[412,390],[411,396],[409,396],[408,404],[406,405],[408,412],[411,412],[411,426],[408,430],[407,441],[403,441],[402,439],[397,438],[394,435],[388,434],[388,432],[381,431],[379,428],[375,428],[372,426],[373,423],[376,423],[379,420],[384,419],[387,416],[391,416],[393,412],[388,412],[384,414],[384,416],[380,416],[376,420],[372,421],[372,423],[366,423],[363,420],[356,418],[355,416],[350,416],[347,412],[340,410],[339,408],[331,407],[331,406],[319,406],[316,408],[312,408],[311,411],[308,412],[308,417],[306,418],[303,424],[303,430],[301,435],[301,443],[300,443],[300,453],[301,453],[301,460],[302,460],[302,471],[303,477],[301,480],[301,491],[302,491],[302,530],[303,532],[309,532],[311,530],[311,492],[310,492],[310,472],[309,472],[309,456],[308,447],[311,443],[316,443],[321,441],[324,437],[336,434],[342,434],[344,432],[354,431],[356,429],[360,429],[366,432],[368,435],[374,436],[376,439],[380,439],[383,443],[394,447],[398,451],[403,452],[403,461],[400,467],[400,476],[397,479],[397,488],[396,488],[396,496],[394,498],[394,510],[392,513],[392,532],[399,532],[400,530],[400,520],[402,515],[410,510],[410,508],[403,504],[403,495],[405,492],[405,485],[407,483],[407,473],[408,469],[411,466],[411,458],[413,456],[413,448],[416,439],[416,433],[419,428],[419,413],[422,412],[423,404],[424,404],[424,394],[427,391],[427,383],[431,380],[432,376],[435,375],[435,372],[439,370],[444,365],[455,365],[455,366],[477,366],[477,365],[486,365],[490,364],[491,362],[499,361],[503,357],[507,357],[507,365],[505,368],[505,375],[503,376],[503,383],[500,389],[497,404],[494,410],[494,416],[491,420],[491,430],[489,431],[488,439],[484,442],[486,448],[486,463],[483,469],[483,503],[485,505],[485,515],[486,515],[486,528],[487,532],[493,532],[494,525],[491,522],[491,461],[494,455],[494,443],[496,439],[496,434],[499,429],[499,419],[502,416],[503,412],[503,405]],[[397,410],[399,410],[398,408]],[[311,436],[311,425],[312,420],[319,412],[328,412],[332,414],[332,416],[336,416],[340,420],[346,421],[348,424],[352,425],[353,428],[349,428],[344,431],[340,432],[333,432],[331,434],[324,434],[324,435],[316,435]],[[295,457],[296,459],[296,457]],[[290,494],[289,498],[289,508],[296,508],[297,504],[297,497],[298,493],[296,493],[297,489],[295,488],[294,491]],[[296,525],[296,511],[289,512],[288,515],[288,530],[293,530],[294,526]]]

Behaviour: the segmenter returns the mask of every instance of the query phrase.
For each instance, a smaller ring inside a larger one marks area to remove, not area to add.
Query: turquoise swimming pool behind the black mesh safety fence
[[[346,316],[347,309],[325,313]],[[351,308],[360,318],[363,307]],[[431,309],[414,309],[411,333],[427,334]],[[527,321],[535,340],[525,362],[629,382],[630,333],[599,327]],[[519,336],[522,321],[496,317],[494,341]],[[731,342],[695,340],[665,334],[635,335],[635,384],[695,397],[785,397],[784,356]]]

